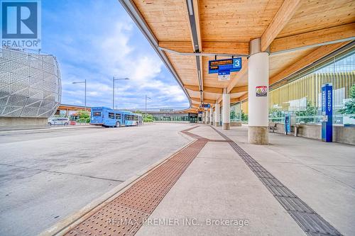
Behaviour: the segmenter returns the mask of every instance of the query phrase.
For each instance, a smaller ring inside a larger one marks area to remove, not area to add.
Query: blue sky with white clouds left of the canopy
[[[187,98],[118,0],[42,0],[42,51],[60,64],[62,103],[143,108],[184,107]]]

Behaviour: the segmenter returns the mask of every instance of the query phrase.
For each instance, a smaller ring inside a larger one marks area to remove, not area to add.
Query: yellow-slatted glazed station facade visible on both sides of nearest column
[[[355,50],[354,47],[346,48],[339,53],[325,57],[311,67],[293,74],[270,86],[268,107],[269,120],[271,122],[283,120],[285,113],[296,114],[299,111],[307,110],[312,106],[316,108],[314,120],[300,116],[299,122],[321,123],[321,88],[322,84],[332,83],[333,85],[333,110],[334,124],[355,124],[355,120],[347,118],[346,114],[339,113],[344,108],[346,101],[349,101],[351,87],[355,85]],[[280,117],[275,116],[278,112]],[[231,120],[247,121],[241,119],[241,113],[248,115],[248,99],[231,105]],[[344,121],[344,116],[346,117]]]

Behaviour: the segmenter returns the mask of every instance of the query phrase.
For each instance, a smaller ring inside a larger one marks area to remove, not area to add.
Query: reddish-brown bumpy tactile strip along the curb
[[[197,140],[180,150],[142,179],[133,184],[113,201],[107,203],[82,223],[66,233],[70,236],[135,235],[165,194],[180,178],[208,139],[189,133],[194,126],[182,132]]]

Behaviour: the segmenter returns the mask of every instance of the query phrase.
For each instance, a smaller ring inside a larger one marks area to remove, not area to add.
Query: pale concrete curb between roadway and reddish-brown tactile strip
[[[60,220],[58,223],[55,223],[52,227],[48,228],[47,230],[44,230],[39,234],[39,236],[49,236],[49,235],[56,235],[56,236],[62,236],[65,235],[69,230],[72,229],[72,227],[75,227],[76,225],[82,223],[85,219],[87,219],[90,215],[92,215],[93,211],[99,210],[99,208],[102,208],[105,206],[107,203],[111,202],[114,200],[114,198],[117,198],[120,196],[124,191],[129,189],[133,184],[136,184],[137,181],[142,179],[144,176],[146,176],[149,172],[153,171],[157,167],[160,166],[160,164],[163,164],[164,162],[168,161],[168,159],[172,158],[180,152],[182,149],[187,147],[188,145],[191,145],[193,142],[197,141],[196,139],[185,135],[184,133],[181,133],[180,131],[178,132],[182,137],[187,138],[187,140],[190,140],[186,145],[180,147],[178,150],[175,150],[174,152],[171,152],[168,154],[166,157],[163,159],[160,159],[158,162],[155,162],[154,164],[151,164],[147,166],[146,168],[143,168],[141,171],[136,172],[134,176],[131,178],[127,179],[123,183],[119,184],[119,186],[116,186],[114,189],[111,189],[107,193],[104,193],[102,196],[99,198],[94,199],[91,203],[88,203],[86,206],[78,210],[76,213],[72,213],[71,215],[68,215],[66,218]]]

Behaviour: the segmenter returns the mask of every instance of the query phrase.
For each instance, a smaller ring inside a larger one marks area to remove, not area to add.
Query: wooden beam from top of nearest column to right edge
[[[271,52],[282,52],[299,47],[319,46],[320,44],[338,42],[339,40],[352,40],[355,37],[355,23],[349,23],[332,28],[324,28],[284,38],[276,38],[271,43]]]

